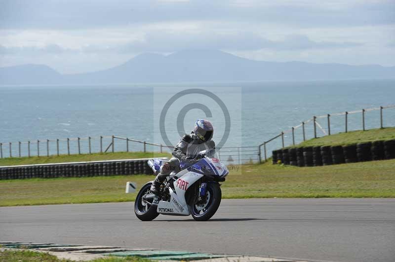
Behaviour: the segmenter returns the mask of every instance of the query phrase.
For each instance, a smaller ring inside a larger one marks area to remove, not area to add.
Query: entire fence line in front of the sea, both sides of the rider
[[[284,148],[306,141],[310,138],[330,135],[339,132],[384,128],[385,117],[395,121],[395,110],[392,114],[384,114],[384,110],[394,109],[395,105],[380,106],[349,112],[313,116],[289,130],[257,146],[217,148],[221,160],[225,164],[254,164],[267,161],[272,150]],[[377,115],[369,115],[379,111]],[[369,117],[367,117],[369,115]],[[387,119],[387,120],[388,120]],[[390,126],[395,126],[395,122]],[[351,123],[353,123],[351,125]],[[25,142],[0,143],[0,158],[7,157],[42,157],[72,154],[92,154],[107,152],[170,152],[173,147],[136,140],[117,135],[96,137],[75,137],[62,139],[43,139]]]

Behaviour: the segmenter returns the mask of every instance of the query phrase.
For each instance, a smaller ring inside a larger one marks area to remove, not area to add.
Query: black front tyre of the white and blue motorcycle
[[[217,212],[218,207],[221,203],[222,192],[218,183],[207,183],[206,188],[207,196],[210,196],[207,199],[206,210],[198,210],[197,205],[193,204],[191,208],[191,215],[196,221],[207,221],[209,220],[215,212]],[[204,210],[204,211],[203,211]],[[200,213],[203,211],[202,213]]]

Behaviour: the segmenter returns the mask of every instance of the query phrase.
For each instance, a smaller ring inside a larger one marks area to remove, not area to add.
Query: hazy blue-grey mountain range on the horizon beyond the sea
[[[144,53],[106,70],[61,75],[48,66],[0,68],[0,84],[108,84],[395,78],[395,66],[264,62],[213,50]]]

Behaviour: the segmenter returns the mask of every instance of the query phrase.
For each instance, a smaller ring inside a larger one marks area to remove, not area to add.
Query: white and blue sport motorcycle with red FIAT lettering
[[[160,186],[158,197],[150,193],[153,181],[145,184],[137,194],[134,212],[142,221],[151,221],[162,215],[189,216],[196,221],[207,221],[221,203],[219,182],[225,181],[228,168],[219,160],[214,150],[199,152],[193,164],[180,163],[181,171],[172,171]],[[158,174],[165,163],[161,159],[148,161]]]

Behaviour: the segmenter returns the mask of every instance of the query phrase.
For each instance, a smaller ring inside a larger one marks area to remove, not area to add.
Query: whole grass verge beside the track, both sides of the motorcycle
[[[395,197],[395,160],[316,167],[241,166],[222,183],[223,198]],[[0,206],[132,201],[151,175],[0,180]]]

